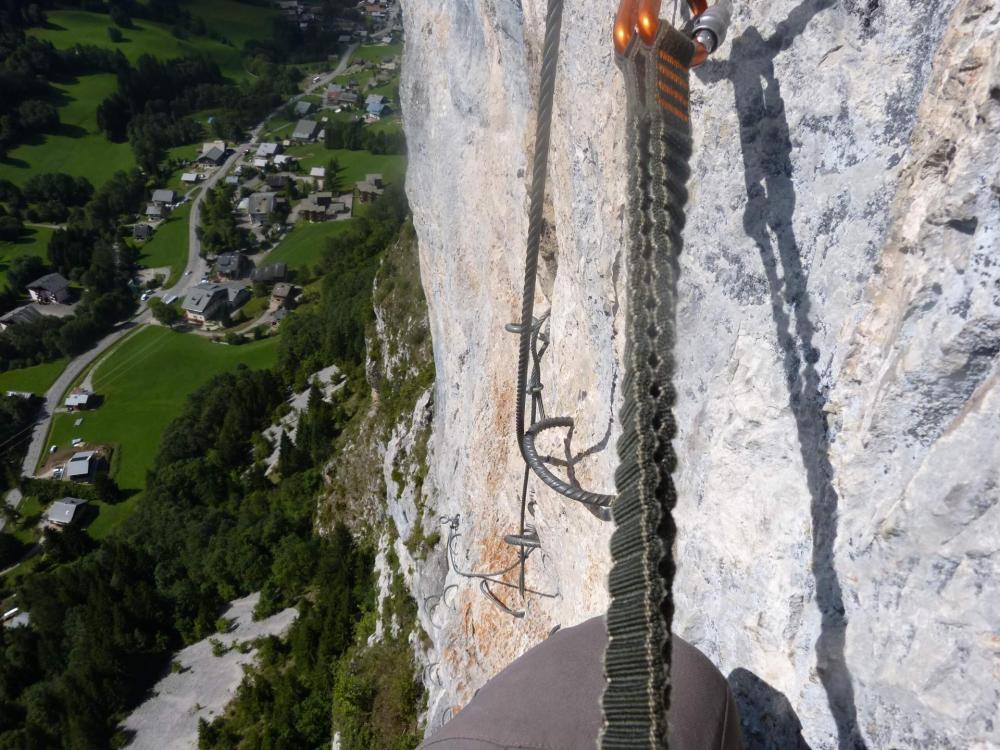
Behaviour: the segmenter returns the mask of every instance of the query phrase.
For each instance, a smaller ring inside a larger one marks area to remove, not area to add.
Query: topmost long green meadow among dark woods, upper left
[[[209,28],[214,28],[232,44],[193,35],[187,39],[179,39],[173,35],[169,26],[142,18],[133,20],[134,28],[121,29],[123,39],[116,43],[108,37],[108,27],[113,25],[109,16],[82,10],[50,11],[48,25],[43,29],[33,29],[31,34],[52,42],[58,49],[66,49],[75,44],[93,44],[96,47],[121,50],[132,63],[142,55],[152,55],[164,60],[187,55],[206,55],[219,65],[223,75],[233,79],[249,77],[243,68],[243,42],[251,36],[269,38],[270,20],[265,19],[275,15],[275,12],[242,3],[211,0],[199,3],[196,15],[205,18]]]

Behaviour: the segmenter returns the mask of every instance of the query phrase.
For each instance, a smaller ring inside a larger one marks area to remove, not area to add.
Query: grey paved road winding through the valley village
[[[343,75],[344,71],[347,70],[348,65],[350,65],[351,57],[354,55],[357,48],[357,44],[352,44],[348,47],[341,56],[340,62],[334,70],[323,75],[319,81],[310,84],[302,94],[293,97],[290,101],[298,101],[303,96],[313,93],[316,89],[325,87],[337,76]],[[284,109],[288,103],[289,102],[285,102],[280,107],[277,107],[273,112],[268,114],[267,117],[265,117],[260,124],[257,125],[257,127],[250,131],[250,138],[246,142],[238,145],[222,166],[215,170],[211,177],[201,183],[201,190],[198,192],[198,195],[195,196],[194,201],[191,204],[191,216],[188,223],[187,266],[184,273],[181,275],[180,280],[169,289],[164,289],[157,296],[166,298],[172,295],[177,295],[178,297],[183,297],[192,286],[198,284],[202,277],[208,273],[208,263],[201,257],[201,240],[198,238],[197,229],[201,223],[201,203],[205,199],[205,195],[208,191],[213,188],[219,180],[229,174],[229,172],[236,166],[237,162],[243,158],[245,152],[257,143],[257,138],[260,135],[261,130],[263,130],[264,126],[267,124],[268,120]],[[139,326],[150,323],[152,320],[153,317],[149,312],[146,303],[141,303],[138,312],[136,312],[131,320],[119,325],[115,328],[115,330],[98,341],[92,349],[84,352],[66,366],[66,369],[63,370],[62,374],[56,379],[56,382],[52,384],[52,387],[49,388],[45,394],[45,404],[42,407],[41,418],[35,424],[35,429],[31,435],[31,444],[28,446],[28,452],[21,465],[21,472],[24,476],[30,477],[35,475],[35,468],[38,466],[38,462],[42,458],[42,452],[46,447],[46,436],[49,432],[49,425],[52,423],[52,417],[56,413],[56,409],[62,403],[63,394],[66,392],[66,389],[69,388],[70,383],[76,380],[77,376],[79,376],[91,362],[100,357],[105,351],[120,341],[130,331]],[[11,490],[8,492],[5,502],[14,508],[17,508],[21,502],[20,491]],[[0,519],[0,530],[3,529],[3,524],[4,520]]]

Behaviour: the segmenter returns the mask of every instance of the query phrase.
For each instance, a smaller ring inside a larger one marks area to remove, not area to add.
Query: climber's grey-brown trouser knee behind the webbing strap
[[[596,748],[607,639],[603,617],[558,631],[487,682],[421,748]],[[677,636],[671,677],[671,750],[743,750],[739,716],[725,678]]]

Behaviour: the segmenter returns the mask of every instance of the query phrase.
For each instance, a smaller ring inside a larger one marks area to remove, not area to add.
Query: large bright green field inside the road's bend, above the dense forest
[[[69,447],[72,438],[113,445],[117,453],[114,478],[135,493],[146,484],[164,428],[181,410],[188,394],[213,376],[243,363],[270,367],[277,358],[278,339],[225,346],[161,326],[147,326],[129,336],[97,366],[94,390],[104,398],[100,408],[82,414],[58,414],[48,445]],[[77,427],[74,422],[82,417]],[[100,537],[124,520],[137,495],[126,503],[100,506],[90,533]]]

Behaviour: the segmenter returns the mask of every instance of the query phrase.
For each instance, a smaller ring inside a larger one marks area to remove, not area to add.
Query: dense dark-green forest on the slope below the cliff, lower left
[[[416,745],[420,688],[408,647],[358,650],[374,606],[372,551],[343,527],[314,533],[321,467],[367,408],[372,277],[406,214],[401,192],[387,191],[350,252],[327,248],[321,298],[286,324],[308,320],[318,354],[297,359],[299,329],[273,370],[214,378],[165,431],[146,493],[116,534],[96,545],[71,532],[46,545],[16,591],[31,626],[0,629],[0,748],[118,745],[118,723],[170,654],[216,632],[226,603],[253,591],[259,615],[286,606],[301,614],[286,640],[262,644],[259,673],[225,719],[202,728],[204,747],[328,746],[331,702],[349,747]],[[333,295],[350,303],[337,315],[328,314]],[[283,435],[278,475],[266,475],[261,432],[311,367],[333,363],[345,387],[330,401],[310,388],[296,440]],[[0,598],[11,593],[0,583]],[[375,705],[372,729],[364,717]]]

